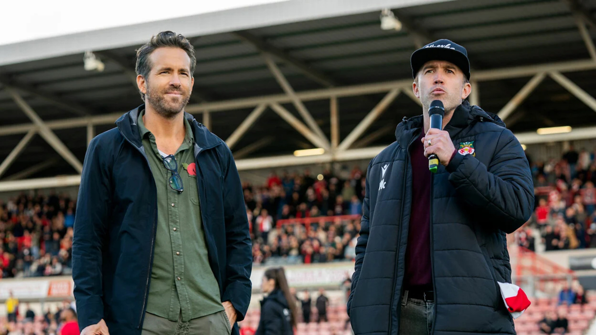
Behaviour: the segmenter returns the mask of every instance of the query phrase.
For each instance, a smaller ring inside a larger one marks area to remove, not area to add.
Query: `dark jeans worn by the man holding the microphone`
[[[408,291],[405,291],[399,317],[399,334],[430,335],[433,322],[434,302],[408,298]]]

